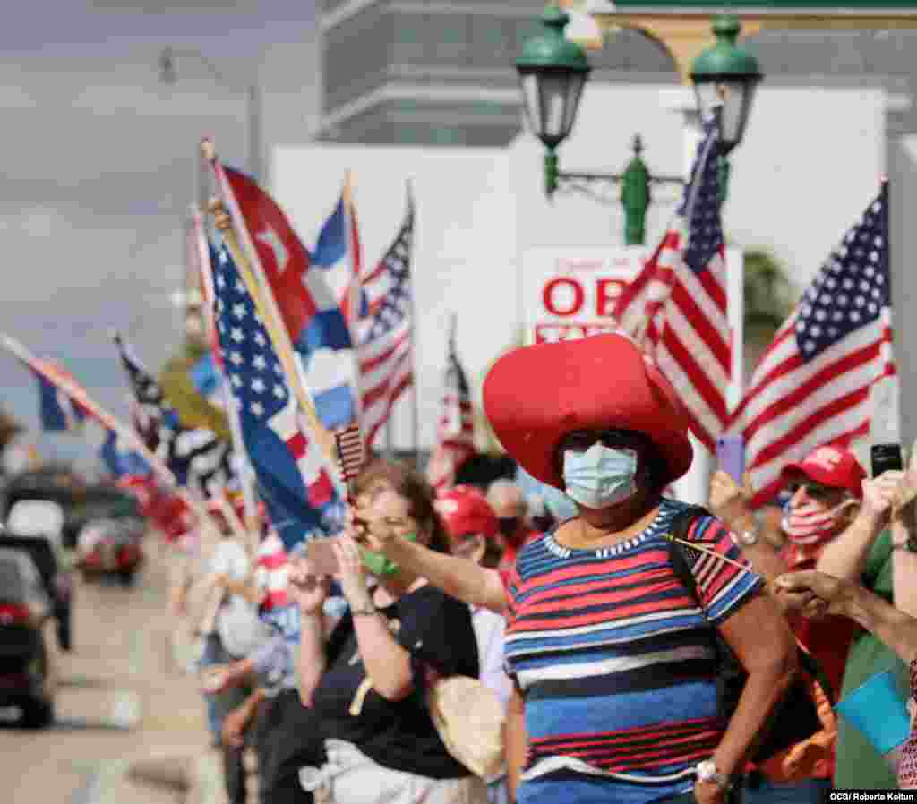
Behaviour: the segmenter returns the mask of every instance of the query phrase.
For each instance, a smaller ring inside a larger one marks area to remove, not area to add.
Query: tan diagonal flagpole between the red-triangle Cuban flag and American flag
[[[325,452],[326,458],[332,467],[337,468],[337,458],[335,457],[334,437],[328,433],[315,413],[315,405],[309,397],[309,392],[305,390],[301,381],[301,375],[293,356],[293,344],[290,343],[290,336],[286,331],[285,325],[282,324],[282,318],[276,310],[276,301],[270,288],[263,294],[260,292],[258,280],[249,259],[246,258],[242,249],[239,247],[238,238],[233,230],[232,220],[226,212],[222,201],[214,200],[210,203],[210,211],[214,215],[216,228],[223,236],[226,247],[229,248],[233,260],[236,262],[239,276],[245,283],[246,289],[251,296],[252,302],[258,310],[261,323],[271,338],[271,345],[280,358],[283,373],[287,383],[290,386],[296,402],[304,414],[306,423],[309,425],[315,439]]]

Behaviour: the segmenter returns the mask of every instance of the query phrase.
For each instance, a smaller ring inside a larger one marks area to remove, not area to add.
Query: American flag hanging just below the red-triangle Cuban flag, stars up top
[[[335,533],[343,506],[321,448],[310,440],[271,339],[225,246],[213,270],[222,361],[271,523],[287,549],[313,535]]]

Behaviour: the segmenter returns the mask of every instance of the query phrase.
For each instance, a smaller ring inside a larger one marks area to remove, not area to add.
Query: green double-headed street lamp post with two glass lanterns
[[[610,200],[602,187],[620,186],[616,201],[624,205],[624,243],[643,245],[646,238],[646,210],[652,202],[653,184],[684,184],[679,176],[656,176],[646,167],[639,136],[634,138],[634,158],[623,173],[561,171],[558,147],[569,136],[580,107],[582,90],[590,66],[580,45],[564,36],[569,16],[550,4],[541,17],[541,31],[526,39],[516,61],[522,84],[525,116],[536,137],[544,144],[545,193],[558,191],[587,193],[602,202]],[[721,199],[725,198],[729,165],[725,157],[741,142],[754,100],[755,88],[763,77],[754,56],[735,44],[741,30],[736,17],[716,17],[716,44],[694,62],[694,82],[702,116],[717,114],[720,120]],[[720,107],[717,110],[717,107]]]

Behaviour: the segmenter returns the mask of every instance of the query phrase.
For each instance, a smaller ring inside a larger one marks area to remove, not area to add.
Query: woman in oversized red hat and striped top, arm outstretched
[[[663,536],[688,506],[662,490],[692,450],[674,390],[630,338],[607,335],[514,350],[483,400],[510,455],[579,512],[525,545],[507,578],[516,800],[723,802],[790,684],[796,648],[753,573],[686,553],[697,598],[675,574]],[[492,576],[475,585],[457,558],[426,561],[378,525],[372,536],[451,594],[499,605]],[[686,538],[743,563],[712,516],[692,519]],[[725,725],[713,627],[748,673]]]

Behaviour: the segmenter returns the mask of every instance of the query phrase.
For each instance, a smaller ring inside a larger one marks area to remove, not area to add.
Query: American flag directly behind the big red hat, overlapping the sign
[[[711,452],[728,421],[725,392],[732,379],[718,129],[715,117],[705,122],[673,225],[613,314],[655,358],[678,391],[692,432]]]

